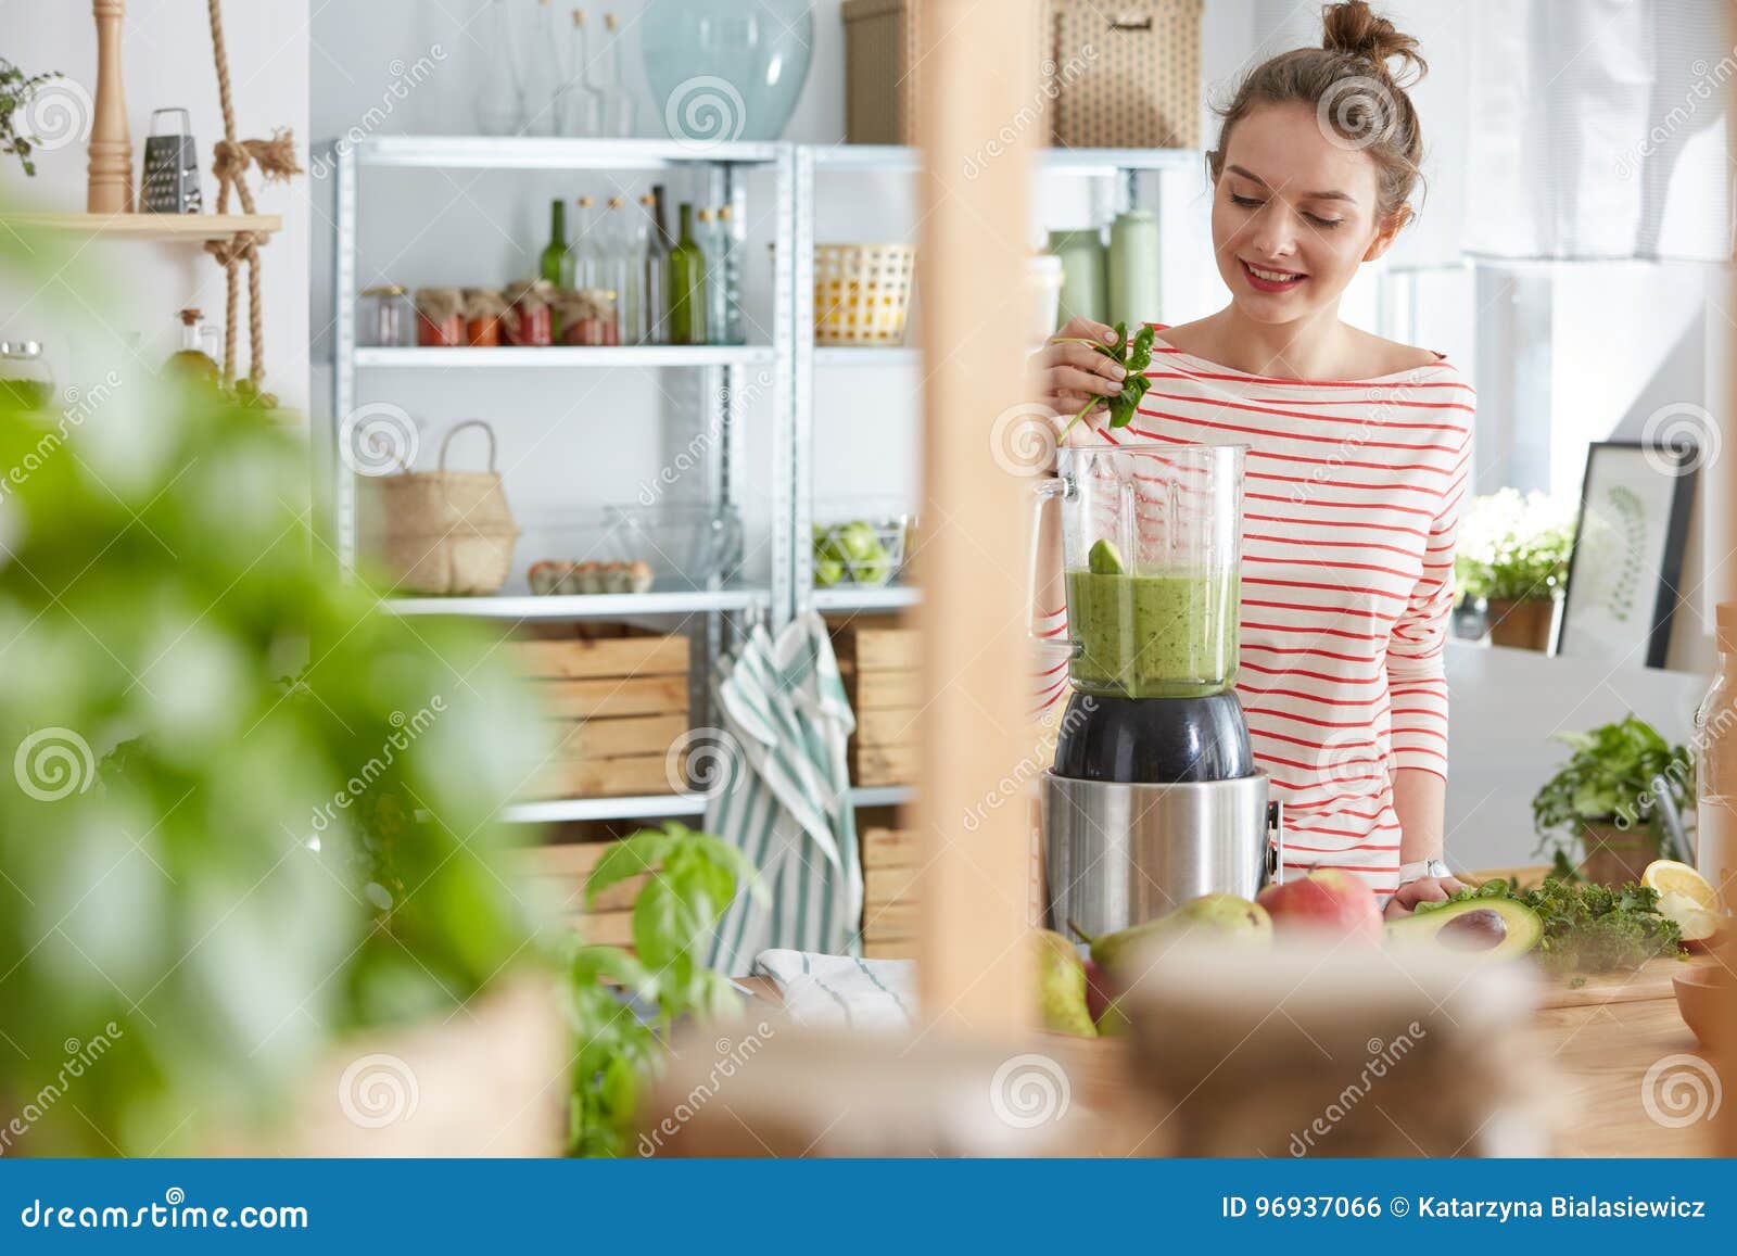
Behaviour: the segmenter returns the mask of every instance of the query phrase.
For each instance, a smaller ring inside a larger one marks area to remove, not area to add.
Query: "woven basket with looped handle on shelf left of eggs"
[[[446,471],[446,448],[466,427],[488,433],[488,471]],[[438,471],[373,481],[375,556],[400,592],[492,594],[512,572],[519,526],[495,471],[495,429],[469,419],[446,431]]]

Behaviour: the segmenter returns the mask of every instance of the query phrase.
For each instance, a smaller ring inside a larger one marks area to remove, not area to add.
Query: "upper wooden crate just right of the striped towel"
[[[832,648],[856,733],[849,742],[853,785],[908,785],[917,778],[917,714],[922,707],[919,632],[896,618],[834,622]]]

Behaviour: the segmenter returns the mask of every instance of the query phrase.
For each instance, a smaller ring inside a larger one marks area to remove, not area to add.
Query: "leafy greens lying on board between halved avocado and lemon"
[[[1416,912],[1426,916],[1447,903],[1482,898],[1513,898],[1537,912],[1544,922],[1539,959],[1560,975],[1635,969],[1648,959],[1681,954],[1681,929],[1659,914],[1659,893],[1636,883],[1612,889],[1546,877],[1522,893],[1496,877],[1445,902],[1417,903]]]

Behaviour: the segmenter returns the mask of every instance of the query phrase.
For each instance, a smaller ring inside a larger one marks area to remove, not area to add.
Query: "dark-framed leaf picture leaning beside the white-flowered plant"
[[[1664,667],[1699,462],[1681,443],[1586,450],[1556,653]]]

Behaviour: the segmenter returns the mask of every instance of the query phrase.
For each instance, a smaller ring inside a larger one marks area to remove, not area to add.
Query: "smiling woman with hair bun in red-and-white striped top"
[[[1320,49],[1258,66],[1219,111],[1212,247],[1225,309],[1159,327],[1126,429],[1080,441],[1240,443],[1237,695],[1285,803],[1287,867],[1339,867],[1409,912],[1461,888],[1442,858],[1454,539],[1471,387],[1440,354],[1339,321],[1339,297],[1410,217],[1423,153],[1405,94],[1417,43],[1367,3],[1331,5]],[[1395,75],[1390,61],[1398,61]],[[1063,337],[1115,334],[1073,320]],[[1087,346],[1039,356],[1068,415],[1120,391]]]

